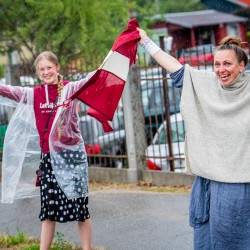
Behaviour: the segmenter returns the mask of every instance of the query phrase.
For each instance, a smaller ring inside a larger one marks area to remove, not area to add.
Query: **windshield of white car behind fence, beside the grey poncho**
[[[164,129],[163,129],[164,128]],[[167,127],[164,126],[159,131],[159,144],[167,143]],[[184,142],[185,140],[185,127],[183,121],[178,121],[177,123],[171,123],[171,133],[172,133],[172,142]]]

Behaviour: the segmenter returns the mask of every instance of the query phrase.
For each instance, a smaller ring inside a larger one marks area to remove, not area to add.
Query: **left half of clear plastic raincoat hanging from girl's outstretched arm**
[[[39,135],[33,109],[32,88],[0,85],[0,104],[15,108],[5,134],[2,159],[4,203],[39,195],[35,171],[40,157]],[[14,98],[14,99],[13,99]]]

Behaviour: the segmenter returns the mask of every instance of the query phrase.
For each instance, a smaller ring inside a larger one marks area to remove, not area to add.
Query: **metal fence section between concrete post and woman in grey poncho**
[[[174,88],[166,70],[154,64],[152,61],[140,68],[147,138],[145,165],[150,170],[185,172],[181,89]]]

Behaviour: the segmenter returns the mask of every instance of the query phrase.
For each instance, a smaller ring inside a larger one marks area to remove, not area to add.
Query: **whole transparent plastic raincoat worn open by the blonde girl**
[[[88,195],[88,163],[84,141],[78,129],[77,106],[61,105],[92,76],[68,83],[62,91],[58,110],[50,131],[49,146],[55,177],[68,199]],[[0,105],[15,108],[9,122],[3,148],[1,202],[40,195],[35,187],[36,170],[40,160],[39,135],[35,124],[34,90],[0,84]],[[71,163],[65,157],[77,152]]]

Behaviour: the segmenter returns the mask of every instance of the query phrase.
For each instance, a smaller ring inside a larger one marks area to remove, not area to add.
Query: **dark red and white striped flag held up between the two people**
[[[104,132],[113,131],[109,121],[121,98],[129,67],[136,60],[140,39],[137,27],[137,20],[131,19],[95,74],[70,97],[70,100],[77,98],[89,106],[87,114],[102,123]]]

